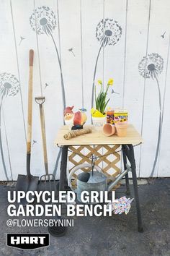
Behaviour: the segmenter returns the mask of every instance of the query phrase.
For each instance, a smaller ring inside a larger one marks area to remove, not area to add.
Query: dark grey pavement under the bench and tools
[[[133,187],[131,190],[133,190]],[[24,251],[6,247],[6,233],[47,232],[47,228],[9,228],[6,220],[6,192],[10,184],[0,185],[0,256],[170,256],[170,179],[151,179],[139,185],[143,233],[137,231],[135,205],[127,216],[77,217],[63,237],[50,236],[50,246]],[[117,197],[123,192],[117,190]],[[123,194],[122,194],[123,195]],[[133,197],[133,193],[132,196]]]

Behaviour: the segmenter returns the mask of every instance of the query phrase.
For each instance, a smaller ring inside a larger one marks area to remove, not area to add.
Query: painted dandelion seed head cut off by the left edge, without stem
[[[19,81],[14,74],[0,74],[0,93],[4,96],[14,96],[19,92]]]

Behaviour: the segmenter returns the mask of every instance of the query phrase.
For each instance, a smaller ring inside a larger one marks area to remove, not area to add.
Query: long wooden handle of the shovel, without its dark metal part
[[[28,114],[27,114],[27,154],[31,153],[32,139],[32,71],[33,71],[34,51],[30,50],[30,67],[28,82]]]

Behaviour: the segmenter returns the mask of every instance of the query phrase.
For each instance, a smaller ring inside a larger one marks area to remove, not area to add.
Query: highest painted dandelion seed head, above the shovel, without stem
[[[49,7],[37,7],[30,17],[30,25],[38,35],[50,35],[57,25],[55,14]]]

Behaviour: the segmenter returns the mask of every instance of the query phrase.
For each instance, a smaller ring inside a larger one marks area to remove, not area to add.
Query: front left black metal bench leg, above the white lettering
[[[68,146],[63,146],[62,155],[61,155],[61,176],[60,176],[60,185],[59,185],[60,191],[64,189],[64,185],[66,184],[67,157],[68,157]]]

